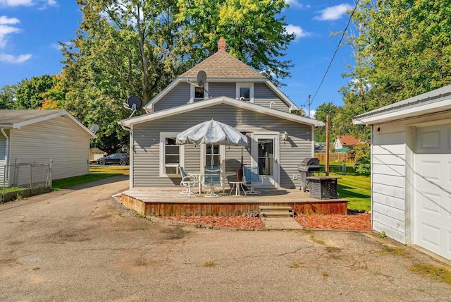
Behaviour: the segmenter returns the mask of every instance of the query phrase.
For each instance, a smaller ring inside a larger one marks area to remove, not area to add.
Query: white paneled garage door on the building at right
[[[414,243],[451,260],[451,125],[416,128]]]

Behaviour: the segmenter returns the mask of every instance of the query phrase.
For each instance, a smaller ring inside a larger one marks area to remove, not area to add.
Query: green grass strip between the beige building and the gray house
[[[83,183],[89,183],[90,181],[98,181],[99,179],[106,179],[111,176],[128,175],[130,168],[128,166],[97,166],[91,165],[89,174],[69,177],[68,179],[58,179],[52,181],[52,188],[54,190],[60,190],[63,188],[70,188],[78,186]]]

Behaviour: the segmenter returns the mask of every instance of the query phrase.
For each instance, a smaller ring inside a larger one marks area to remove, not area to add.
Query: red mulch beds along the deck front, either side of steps
[[[179,222],[192,222],[199,225],[214,227],[231,227],[237,229],[263,229],[264,223],[260,218],[246,218],[241,216],[175,216],[161,217]],[[296,221],[305,229],[340,229],[347,231],[371,231],[371,215],[369,213],[357,215],[324,215],[297,216]]]

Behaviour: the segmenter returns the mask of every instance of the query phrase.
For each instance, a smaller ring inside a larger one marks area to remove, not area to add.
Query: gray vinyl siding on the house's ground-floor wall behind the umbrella
[[[297,165],[305,157],[311,157],[311,126],[259,114],[247,109],[218,104],[163,119],[140,123],[133,128],[133,188],[179,186],[180,177],[159,176],[160,132],[182,132],[197,123],[214,119],[237,128],[238,131],[283,133],[290,136],[286,143],[280,143],[280,187],[299,188]],[[185,146],[185,167],[191,171],[200,169],[200,148]],[[245,164],[250,164],[250,150],[243,150]],[[226,146],[226,173],[236,172],[241,162],[241,147]],[[192,160],[192,162],[190,162]],[[230,179],[233,176],[230,176]]]

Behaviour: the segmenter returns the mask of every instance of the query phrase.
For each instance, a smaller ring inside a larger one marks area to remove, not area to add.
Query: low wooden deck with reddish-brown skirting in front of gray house
[[[260,205],[291,206],[296,215],[347,215],[347,200],[319,200],[295,189],[259,189],[259,195],[238,198],[229,196],[229,190],[218,198],[197,194],[188,198],[180,191],[181,188],[134,189],[123,192],[121,201],[125,207],[149,216],[239,216],[258,211]]]

